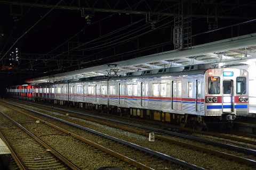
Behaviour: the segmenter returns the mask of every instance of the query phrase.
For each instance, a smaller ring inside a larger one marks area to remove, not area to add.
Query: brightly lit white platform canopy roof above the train
[[[256,33],[253,33],[251,35],[193,46],[191,49],[170,50],[163,53],[133,58],[131,60],[30,79],[25,82],[39,84],[43,82],[93,77],[97,75],[125,75],[127,72],[207,63],[217,67],[243,67],[247,69],[247,63],[254,63],[255,65],[255,61]]]

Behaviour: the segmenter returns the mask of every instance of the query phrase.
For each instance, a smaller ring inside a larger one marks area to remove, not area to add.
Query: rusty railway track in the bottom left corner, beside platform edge
[[[20,169],[79,169],[3,112],[0,123],[1,137]]]

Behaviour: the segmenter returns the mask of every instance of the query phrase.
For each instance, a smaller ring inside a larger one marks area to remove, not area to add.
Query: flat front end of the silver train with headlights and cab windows
[[[235,120],[249,114],[249,76],[243,69],[209,69],[205,72],[205,115]]]

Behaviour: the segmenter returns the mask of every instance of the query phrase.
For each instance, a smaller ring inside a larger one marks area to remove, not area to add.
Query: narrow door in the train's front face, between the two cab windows
[[[223,112],[233,112],[233,80],[223,80],[222,103]]]

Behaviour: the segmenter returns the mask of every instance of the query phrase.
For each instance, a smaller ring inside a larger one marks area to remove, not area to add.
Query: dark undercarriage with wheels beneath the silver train
[[[227,121],[227,116],[235,115],[225,115],[225,116],[200,116],[200,115],[190,115],[190,114],[175,114],[175,113],[166,113],[161,111],[153,111],[148,109],[139,109],[139,108],[124,108],[117,106],[108,106],[108,105],[97,105],[90,103],[81,103],[65,100],[52,100],[52,99],[42,99],[36,98],[36,101],[41,101],[43,103],[49,103],[53,105],[64,105],[67,107],[75,108],[85,108],[85,109],[94,109],[100,113],[114,114],[127,117],[140,117],[147,120],[154,120],[159,122],[166,122],[172,124],[179,124],[182,128],[190,127],[197,130],[209,129],[209,127],[214,127],[218,129],[232,127],[231,121]]]

